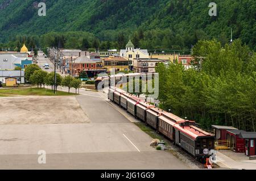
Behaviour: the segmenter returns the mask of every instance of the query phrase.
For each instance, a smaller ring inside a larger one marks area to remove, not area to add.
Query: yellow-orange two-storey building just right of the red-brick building
[[[129,60],[123,57],[106,57],[101,58],[104,69],[107,71],[111,71],[115,69],[115,71],[129,71]]]

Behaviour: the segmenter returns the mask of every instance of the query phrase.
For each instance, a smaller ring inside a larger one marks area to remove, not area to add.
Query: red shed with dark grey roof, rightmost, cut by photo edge
[[[241,132],[240,138],[245,140],[245,154],[247,156],[256,155],[256,132]]]

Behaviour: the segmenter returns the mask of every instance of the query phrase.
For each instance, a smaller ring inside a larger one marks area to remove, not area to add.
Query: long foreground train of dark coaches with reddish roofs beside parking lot
[[[117,87],[110,87],[108,99],[141,120],[200,162],[205,162],[214,150],[214,135],[196,127],[196,122],[182,119],[161,110]]]

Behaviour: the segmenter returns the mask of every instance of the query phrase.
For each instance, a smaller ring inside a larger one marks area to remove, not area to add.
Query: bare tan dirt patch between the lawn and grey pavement
[[[0,124],[90,123],[75,96],[0,98]]]

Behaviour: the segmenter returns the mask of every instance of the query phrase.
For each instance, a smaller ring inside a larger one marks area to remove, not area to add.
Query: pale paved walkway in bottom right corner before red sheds
[[[234,153],[237,154],[237,153]],[[256,160],[235,161],[220,151],[217,151],[217,165],[227,169],[256,170]]]

